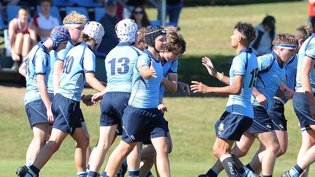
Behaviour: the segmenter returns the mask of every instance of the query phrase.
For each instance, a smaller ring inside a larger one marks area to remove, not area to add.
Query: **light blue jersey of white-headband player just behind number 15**
[[[268,103],[260,105],[254,96],[252,96],[253,106],[262,106],[266,110],[271,106],[272,99],[276,95],[285,77],[285,67],[283,63],[278,62],[278,55],[271,51],[270,53],[257,58],[258,61],[258,79],[257,90],[265,95]]]

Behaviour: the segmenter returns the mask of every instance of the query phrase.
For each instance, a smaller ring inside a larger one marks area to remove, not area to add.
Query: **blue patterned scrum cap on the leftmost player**
[[[63,26],[56,26],[54,29],[51,30],[48,36],[52,40],[53,50],[56,50],[61,42],[70,41],[71,39],[68,29],[64,28]]]

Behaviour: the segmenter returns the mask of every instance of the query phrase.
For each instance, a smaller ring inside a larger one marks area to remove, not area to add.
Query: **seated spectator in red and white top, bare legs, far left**
[[[20,7],[17,11],[17,17],[9,23],[9,42],[14,61],[12,69],[18,69],[31,50],[32,40],[34,43],[36,42],[36,33],[30,28],[29,15],[28,7]]]

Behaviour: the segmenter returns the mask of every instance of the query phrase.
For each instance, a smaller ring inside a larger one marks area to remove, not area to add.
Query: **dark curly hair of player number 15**
[[[234,29],[237,29],[241,34],[246,36],[245,41],[248,44],[251,44],[256,38],[256,30],[250,23],[239,21],[235,24]]]

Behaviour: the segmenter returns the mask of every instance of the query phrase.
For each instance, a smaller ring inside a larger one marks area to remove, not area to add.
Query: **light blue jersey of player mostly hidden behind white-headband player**
[[[291,89],[294,89],[295,86],[295,75],[297,74],[298,68],[298,57],[294,55],[289,62],[284,64],[285,67],[285,77],[284,84]],[[281,103],[285,104],[289,101],[287,98],[278,98],[274,97],[274,99],[279,100]]]

